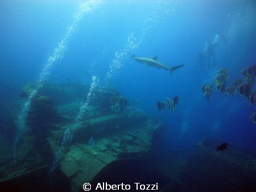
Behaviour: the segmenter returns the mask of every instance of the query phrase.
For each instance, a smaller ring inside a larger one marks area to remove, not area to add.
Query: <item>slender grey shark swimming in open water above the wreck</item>
[[[159,69],[170,70],[171,74],[174,70],[181,68],[181,66],[184,66],[184,64],[176,65],[176,66],[172,66],[172,67],[164,65],[157,61],[158,60],[157,56],[155,56],[151,59],[151,58],[147,58],[147,57],[137,57],[135,55],[132,55],[131,58],[133,58],[135,61],[137,61],[141,64],[145,64],[147,66],[152,66],[152,67],[159,68]]]

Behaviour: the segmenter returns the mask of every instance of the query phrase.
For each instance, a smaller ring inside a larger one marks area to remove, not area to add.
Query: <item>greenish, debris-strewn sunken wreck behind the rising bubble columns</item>
[[[23,87],[22,97],[33,89]],[[22,180],[34,172],[47,172],[60,148],[64,133],[72,130],[80,102],[89,86],[75,83],[46,84],[28,111],[26,127],[16,149],[16,163],[12,156],[12,139],[1,138],[0,182]],[[144,153],[151,147],[152,134],[162,123],[148,118],[142,110],[129,105],[129,101],[115,90],[101,89],[89,103],[72,142],[61,151],[57,172],[70,182],[71,190],[78,191],[90,182],[106,165],[130,153]],[[6,112],[13,121],[13,132],[23,100],[11,102]],[[9,130],[3,131],[3,136]],[[88,144],[93,137],[96,145]],[[54,177],[52,174],[51,177]]]

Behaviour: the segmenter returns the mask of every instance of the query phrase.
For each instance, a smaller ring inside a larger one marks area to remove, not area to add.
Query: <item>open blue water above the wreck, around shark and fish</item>
[[[1,103],[18,99],[24,84],[38,80],[79,5],[79,1],[0,2]],[[109,85],[130,100],[138,99],[139,108],[165,123],[166,148],[189,149],[200,139],[217,136],[256,151],[256,127],[249,118],[255,106],[244,96],[218,93],[215,87],[212,99],[206,101],[200,90],[206,83],[213,84],[220,68],[229,69],[231,84],[236,78],[244,79],[241,69],[255,63],[255,7],[254,1],[103,2],[79,21],[48,81],[63,83],[68,77],[90,84],[95,75],[104,86],[116,52],[128,45]],[[216,34],[225,34],[228,42],[215,49],[216,66],[203,71],[197,54]],[[127,43],[129,36],[137,48]],[[185,66],[170,76],[135,62],[132,54],[158,56],[168,66]],[[156,108],[157,101],[174,95],[179,96],[175,112]]]

